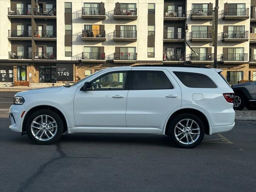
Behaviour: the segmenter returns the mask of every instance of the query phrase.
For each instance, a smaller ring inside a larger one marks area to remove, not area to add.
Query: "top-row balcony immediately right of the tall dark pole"
[[[223,20],[246,20],[249,18],[249,8],[226,8],[222,10]]]

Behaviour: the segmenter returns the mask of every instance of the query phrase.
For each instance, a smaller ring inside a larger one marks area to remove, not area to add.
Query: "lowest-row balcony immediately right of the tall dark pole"
[[[224,53],[221,54],[220,60],[224,63],[230,64],[241,64],[247,63],[248,54],[247,53]]]

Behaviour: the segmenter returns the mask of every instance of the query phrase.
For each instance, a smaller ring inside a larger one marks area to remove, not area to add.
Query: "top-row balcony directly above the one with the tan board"
[[[105,8],[102,7],[82,7],[82,19],[105,20]]]

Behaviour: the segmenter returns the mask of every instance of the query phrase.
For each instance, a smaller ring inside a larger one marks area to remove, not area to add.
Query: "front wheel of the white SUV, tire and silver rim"
[[[53,111],[46,109],[39,110],[28,118],[26,132],[30,140],[34,143],[49,145],[60,139],[63,133],[63,122],[60,116]]]

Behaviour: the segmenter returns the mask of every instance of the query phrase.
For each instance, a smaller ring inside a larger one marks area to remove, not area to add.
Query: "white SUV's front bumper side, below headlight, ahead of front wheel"
[[[9,109],[9,118],[11,121],[11,125],[9,126],[10,130],[15,132],[22,132],[21,114],[23,111],[26,111],[26,108],[24,107],[24,105],[12,105],[10,107]]]

